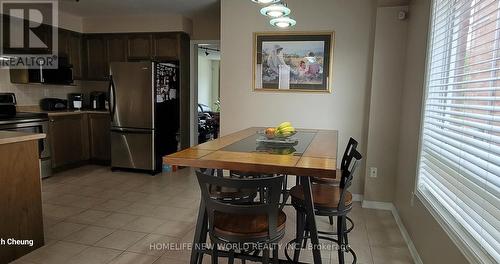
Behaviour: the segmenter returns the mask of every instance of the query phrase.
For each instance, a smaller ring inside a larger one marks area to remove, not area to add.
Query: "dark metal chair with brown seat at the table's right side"
[[[356,263],[356,253],[349,247],[348,233],[352,230],[347,228],[347,214],[352,210],[352,194],[348,191],[352,184],[352,179],[362,155],[351,148],[349,154],[342,161],[344,170],[341,171],[341,178],[338,185],[330,184],[312,184],[311,191],[313,196],[315,215],[337,217],[337,232],[318,231],[320,239],[326,239],[337,243],[339,262],[344,264],[344,253],[349,252],[353,256],[353,263]],[[295,244],[293,261],[298,261],[300,250],[303,245],[305,235],[308,231],[308,223],[305,215],[305,198],[303,187],[297,185],[290,190],[292,205],[297,211],[297,233],[296,238],[288,244]],[[351,221],[352,223],[352,221]],[[334,238],[336,236],[336,238]],[[288,252],[285,252],[289,260]]]

